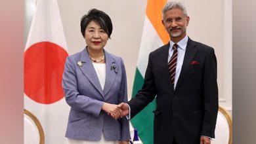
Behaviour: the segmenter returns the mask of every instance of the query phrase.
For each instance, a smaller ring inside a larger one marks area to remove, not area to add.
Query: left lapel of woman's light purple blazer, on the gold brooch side
[[[104,97],[103,95],[103,90],[100,86],[100,81],[98,81],[98,76],[95,71],[95,67],[93,67],[93,63],[91,62],[89,58],[89,54],[87,52],[87,48],[85,48],[81,52],[81,62],[83,63],[82,66],[79,66],[85,77],[89,79],[89,81],[95,86],[96,90],[100,92],[100,94]]]

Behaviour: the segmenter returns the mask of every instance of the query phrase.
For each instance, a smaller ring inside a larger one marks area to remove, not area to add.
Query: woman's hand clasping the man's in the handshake
[[[103,103],[102,110],[111,115],[113,118],[117,120],[121,116],[122,110],[118,105],[110,104],[110,103]]]

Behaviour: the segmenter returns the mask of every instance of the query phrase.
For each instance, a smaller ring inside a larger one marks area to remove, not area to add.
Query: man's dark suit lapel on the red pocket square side
[[[186,46],[186,52],[185,52],[185,56],[184,56],[184,60],[181,68],[181,74],[179,76],[175,90],[179,88],[179,85],[181,84],[182,80],[186,75],[186,72],[188,71],[188,68],[190,67],[190,63],[192,62],[196,54],[196,49],[194,48],[195,46],[196,44],[194,43],[194,41],[188,38],[188,45]]]

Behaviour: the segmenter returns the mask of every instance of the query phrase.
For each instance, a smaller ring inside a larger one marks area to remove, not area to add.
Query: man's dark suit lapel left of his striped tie
[[[160,75],[164,75],[165,80],[167,84],[170,86],[171,90],[174,91],[173,84],[171,84],[171,76],[168,69],[168,55],[169,55],[169,43],[163,47],[161,47],[162,52],[160,56],[160,63],[163,63],[161,67],[163,68],[163,71],[160,72]]]

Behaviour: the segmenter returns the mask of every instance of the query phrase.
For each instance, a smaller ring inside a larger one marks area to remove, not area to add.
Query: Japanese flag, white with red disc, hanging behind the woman
[[[67,51],[57,1],[38,0],[24,50],[24,109],[38,118],[47,144],[66,143],[70,107],[62,73]]]

